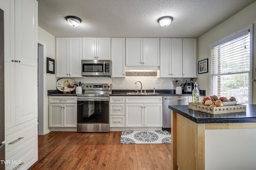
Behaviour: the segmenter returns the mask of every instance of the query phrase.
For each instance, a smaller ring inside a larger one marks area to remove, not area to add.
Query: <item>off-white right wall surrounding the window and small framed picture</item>
[[[209,45],[219,39],[222,39],[248,25],[252,25],[256,20],[256,2],[250,6],[244,8],[242,11],[238,12],[228,20],[222,22],[220,25],[214,27],[204,35],[198,38],[198,61],[209,59],[210,52]],[[254,25],[255,26],[255,25]],[[254,54],[256,54],[256,29],[254,28]],[[255,57],[256,58],[256,57]],[[254,66],[256,65],[256,59],[254,59]],[[253,83],[254,86],[256,82]],[[206,90],[206,96],[210,96],[210,65],[209,72],[198,74],[198,84],[200,84],[200,89]],[[253,88],[253,95],[256,96],[256,87]],[[256,104],[256,98],[252,100],[252,104]]]

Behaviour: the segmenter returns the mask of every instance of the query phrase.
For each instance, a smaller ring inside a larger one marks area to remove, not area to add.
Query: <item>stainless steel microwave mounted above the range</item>
[[[110,60],[82,60],[82,76],[110,76]]]

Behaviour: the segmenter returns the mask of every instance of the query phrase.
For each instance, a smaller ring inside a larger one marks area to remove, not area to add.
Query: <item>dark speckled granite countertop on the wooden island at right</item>
[[[176,113],[195,123],[256,123],[256,105],[246,105],[246,111],[238,113],[210,114],[189,109],[188,106],[168,106]]]

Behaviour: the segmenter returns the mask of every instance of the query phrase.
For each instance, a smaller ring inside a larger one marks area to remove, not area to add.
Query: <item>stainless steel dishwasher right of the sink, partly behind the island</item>
[[[188,96],[163,96],[163,130],[171,129],[171,110],[169,105],[188,105]]]

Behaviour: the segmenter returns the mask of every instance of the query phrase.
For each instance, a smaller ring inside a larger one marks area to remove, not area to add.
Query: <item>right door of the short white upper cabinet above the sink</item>
[[[143,38],[143,66],[160,65],[160,39]]]

